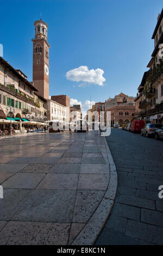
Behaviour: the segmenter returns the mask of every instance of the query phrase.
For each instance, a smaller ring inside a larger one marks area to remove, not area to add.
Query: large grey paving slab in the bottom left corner
[[[0,233],[0,244],[65,245],[69,229],[68,223],[10,221]]]

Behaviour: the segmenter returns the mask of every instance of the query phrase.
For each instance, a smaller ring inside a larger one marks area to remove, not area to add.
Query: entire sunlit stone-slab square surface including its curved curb
[[[46,133],[4,139],[1,147],[0,245],[93,244],[117,188],[105,138]]]

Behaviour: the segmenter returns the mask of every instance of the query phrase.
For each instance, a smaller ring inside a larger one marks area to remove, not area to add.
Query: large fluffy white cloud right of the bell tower
[[[91,84],[98,84],[103,86],[106,81],[103,77],[104,71],[102,69],[88,69],[87,66],[79,66],[79,68],[72,69],[66,72],[67,80],[74,82],[87,82]]]

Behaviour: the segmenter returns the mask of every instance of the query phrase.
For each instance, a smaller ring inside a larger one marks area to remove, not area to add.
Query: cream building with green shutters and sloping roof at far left
[[[40,115],[45,117],[46,109],[36,103],[36,93],[37,89],[27,80],[27,76],[0,57],[0,118],[10,117],[10,106],[14,108],[12,118],[34,120]]]

